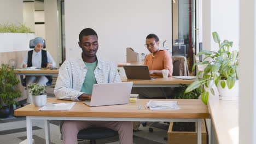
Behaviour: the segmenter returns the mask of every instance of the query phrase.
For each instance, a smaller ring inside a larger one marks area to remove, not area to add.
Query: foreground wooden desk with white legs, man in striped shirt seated
[[[43,119],[45,124],[45,140],[50,143],[49,120],[74,121],[151,121],[151,122],[197,122],[197,143],[201,144],[201,119],[209,118],[208,108],[199,99],[177,99],[181,110],[150,111],[145,109],[150,99],[139,99],[137,103],[127,105],[88,107],[82,101],[69,111],[38,111],[40,107],[33,104],[14,111],[15,116],[27,116],[27,140],[32,143],[32,119]],[[154,99],[166,100],[166,99]],[[169,99],[170,100],[170,99]],[[172,99],[173,100],[173,99]],[[48,103],[69,101],[48,99]],[[141,105],[142,109],[138,110]]]

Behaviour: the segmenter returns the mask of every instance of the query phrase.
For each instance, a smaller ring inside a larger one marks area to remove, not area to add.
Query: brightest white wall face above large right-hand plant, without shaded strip
[[[218,32],[220,40],[234,42],[233,50],[239,49],[239,1],[211,1],[211,31]],[[212,40],[213,42],[213,40]],[[218,44],[213,43],[211,50],[218,51]]]

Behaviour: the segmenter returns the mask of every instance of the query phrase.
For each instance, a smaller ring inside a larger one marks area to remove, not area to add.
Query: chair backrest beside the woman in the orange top
[[[188,76],[187,58],[184,56],[172,56],[173,76]]]

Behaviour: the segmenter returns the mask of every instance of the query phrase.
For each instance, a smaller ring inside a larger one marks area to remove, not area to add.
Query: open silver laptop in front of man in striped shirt
[[[88,106],[128,104],[132,82],[94,84],[91,100],[84,101]]]

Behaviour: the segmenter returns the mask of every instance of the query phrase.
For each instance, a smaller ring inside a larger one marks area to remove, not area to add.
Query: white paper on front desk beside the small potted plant
[[[39,109],[39,111],[63,111],[70,110],[74,106],[72,103],[47,103],[45,106]]]

